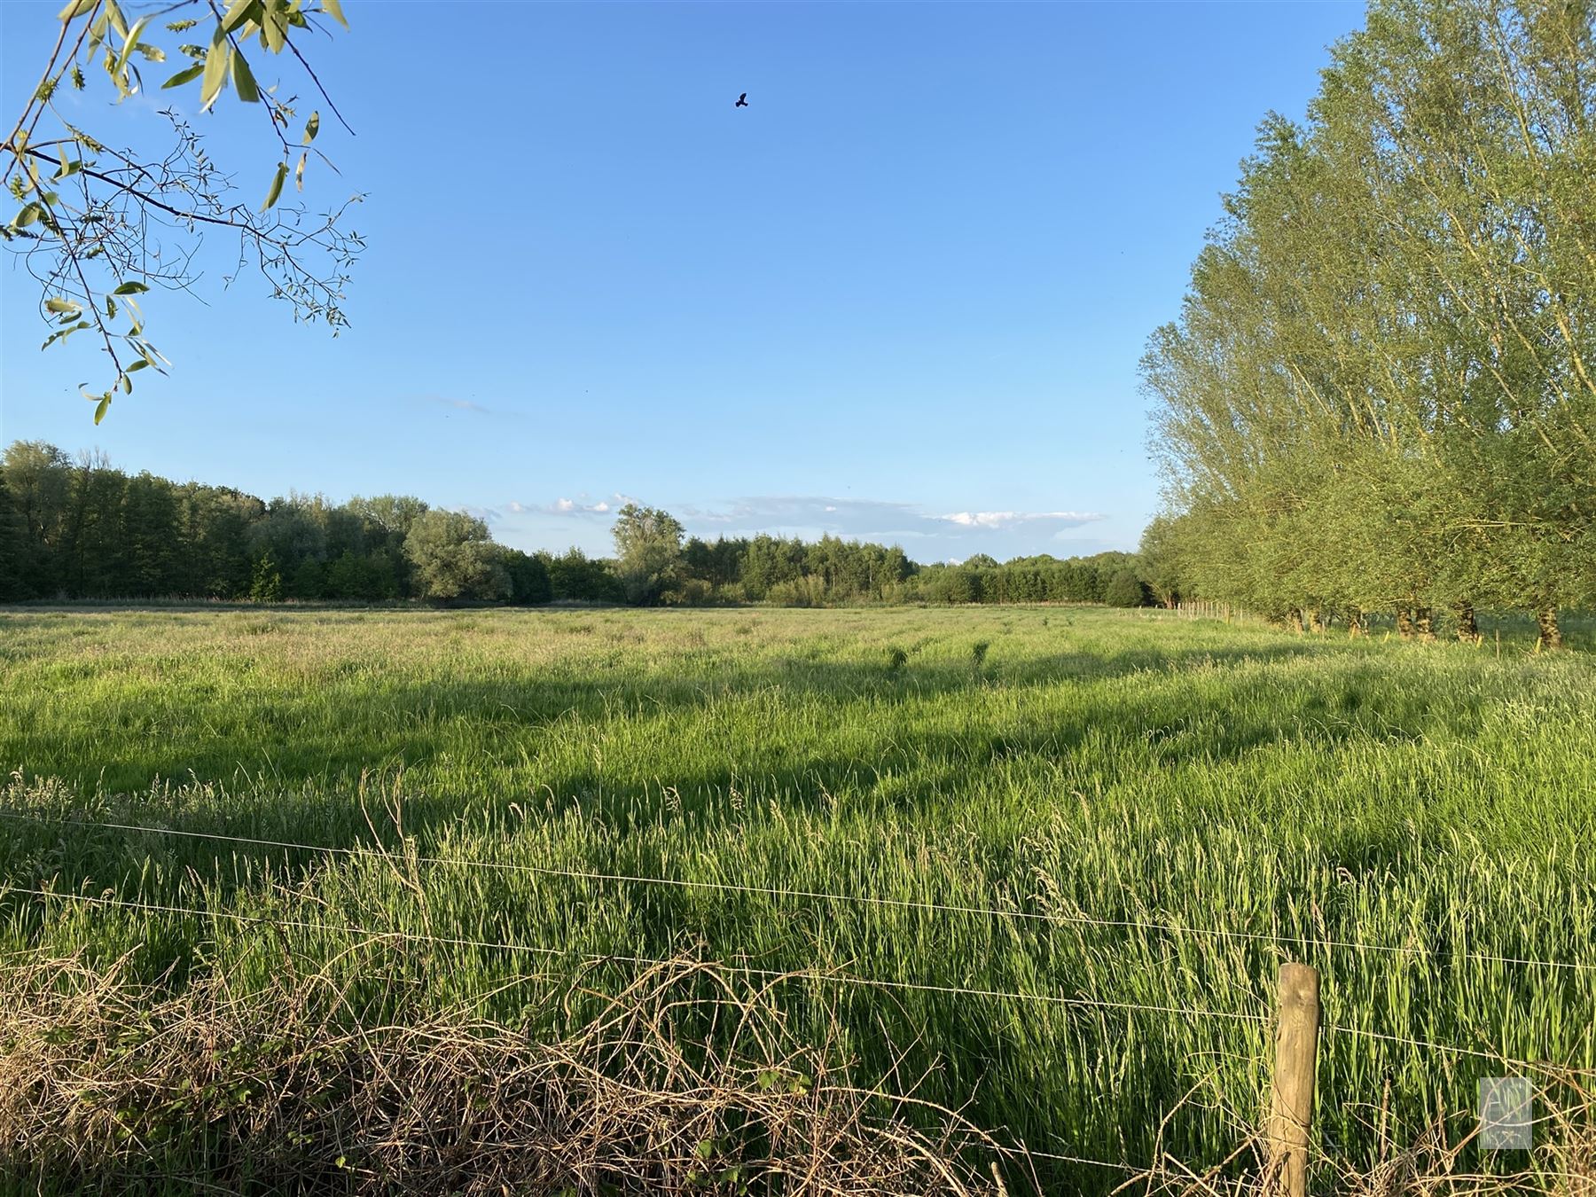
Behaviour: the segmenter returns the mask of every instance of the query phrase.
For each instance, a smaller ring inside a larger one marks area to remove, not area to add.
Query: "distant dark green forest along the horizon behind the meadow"
[[[1154,594],[1135,554],[918,565],[835,536],[704,541],[669,512],[618,512],[616,554],[522,552],[488,525],[407,495],[263,501],[231,487],[126,474],[37,440],[0,456],[0,602],[836,603],[1084,602]],[[1170,598],[1171,595],[1162,595]]]

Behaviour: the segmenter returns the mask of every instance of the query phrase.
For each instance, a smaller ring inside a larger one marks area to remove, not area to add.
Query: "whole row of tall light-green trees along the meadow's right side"
[[[1374,0],[1143,359],[1160,594],[1476,638],[1596,605],[1596,5]]]

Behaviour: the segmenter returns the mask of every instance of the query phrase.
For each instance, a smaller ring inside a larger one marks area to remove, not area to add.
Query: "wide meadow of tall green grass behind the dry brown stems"
[[[1264,1103],[1251,1017],[1286,958],[1323,970],[1318,1133],[1344,1156],[1373,1154],[1387,1073],[1412,1127],[1502,1071],[1424,1042],[1596,1066],[1582,653],[1092,608],[13,610],[0,766],[0,811],[45,819],[0,824],[0,881],[298,924],[13,892],[3,950],[144,943],[139,977],[247,991],[284,946],[364,967],[361,927],[986,991],[814,983],[878,1074],[1044,1152],[1144,1162],[1195,1090],[1163,1146],[1226,1154]],[[394,795],[440,859],[417,884],[380,855],[48,822],[394,844]],[[397,967],[514,1021],[559,966],[417,943]]]

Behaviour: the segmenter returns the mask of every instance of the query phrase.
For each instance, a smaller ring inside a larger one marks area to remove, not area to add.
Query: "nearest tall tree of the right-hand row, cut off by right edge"
[[[1590,595],[1577,568],[1593,495],[1591,393],[1577,385],[1590,8],[1377,5],[1337,65],[1357,80],[1342,97],[1377,148],[1376,201],[1414,281],[1412,318],[1444,367],[1428,375],[1435,444],[1465,496],[1441,522],[1448,589],[1460,606],[1465,583],[1532,606],[1556,643],[1555,606]],[[1537,107],[1547,93],[1558,104]],[[1555,182],[1570,171],[1583,192]]]

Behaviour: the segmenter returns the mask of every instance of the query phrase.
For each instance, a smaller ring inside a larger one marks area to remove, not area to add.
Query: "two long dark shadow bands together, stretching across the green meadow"
[[[327,860],[327,852],[235,844],[225,838],[319,849],[391,843],[396,836],[383,811],[383,796],[396,785],[404,795],[404,830],[415,836],[421,852],[429,852],[468,816],[503,811],[512,801],[530,806],[535,814],[543,806],[544,817],[559,817],[575,808],[621,835],[664,817],[661,792],[666,785],[681,812],[710,817],[704,827],[720,825],[718,812],[726,809],[734,788],[744,800],[772,798],[788,809],[814,809],[828,795],[847,795],[855,812],[883,809],[919,816],[934,814],[950,796],[956,798],[961,787],[969,790],[972,779],[1013,761],[1057,761],[1092,753],[1101,771],[1146,777],[1160,769],[1234,763],[1288,742],[1310,742],[1315,750],[1326,750],[1358,739],[1416,741],[1436,718],[1422,693],[1376,691],[1366,678],[1329,674],[1299,688],[1290,705],[1278,707],[1245,702],[1203,709],[1194,707],[1184,691],[1141,694],[1130,689],[1104,694],[1087,718],[1047,725],[1004,725],[1001,712],[985,717],[999,726],[972,721],[964,729],[948,729],[945,721],[929,720],[927,726],[915,720],[922,702],[993,686],[1179,672],[1194,661],[1234,667],[1310,651],[1312,643],[1288,642],[1264,651],[1148,650],[1109,658],[1060,653],[1017,667],[996,664],[983,672],[954,664],[894,672],[873,662],[780,661],[721,674],[713,688],[680,680],[627,681],[614,688],[570,680],[388,686],[375,697],[348,696],[348,709],[335,707],[330,717],[326,707],[319,709],[314,726],[295,729],[286,720],[279,726],[257,728],[249,745],[259,753],[255,757],[236,747],[190,744],[179,736],[142,744],[134,760],[120,761],[115,774],[107,771],[107,782],[97,792],[13,787],[8,796],[0,795],[0,812],[10,808],[11,814],[41,816],[45,822],[5,820],[0,879],[26,886],[56,879],[64,889],[110,886],[132,895],[144,892],[140,878],[148,875],[152,862],[160,862],[174,878],[193,868],[223,892],[243,884],[238,878],[259,875],[241,868],[239,860],[271,860],[287,876],[300,876]],[[683,753],[691,768],[678,768],[667,777],[653,776],[648,761],[622,761],[605,769],[571,753],[552,764],[536,758],[539,737],[559,734],[570,720],[583,726],[634,718],[637,712],[702,709],[760,689],[779,691],[784,702],[795,705],[860,702],[863,713],[886,720],[903,707],[905,718],[881,729],[879,750],[868,758],[795,752],[792,745],[763,757],[758,745],[736,757],[720,755],[707,733],[701,750]],[[327,697],[322,694],[319,701]],[[338,699],[337,691],[332,699]],[[1459,718],[1462,712],[1441,713]],[[413,731],[396,733],[394,725],[407,717],[415,720]],[[517,745],[528,749],[519,763],[504,764],[500,758],[493,768],[484,768],[485,776],[498,774],[498,793],[428,788],[431,764],[445,755],[458,761],[463,752],[460,725],[469,726],[484,753],[511,753]],[[348,726],[350,731],[330,734],[322,731],[326,726]],[[367,772],[372,774],[369,785]],[[169,785],[152,793],[147,780],[152,776],[192,776],[200,784]],[[118,788],[112,777],[124,777],[129,784]],[[222,784],[206,785],[217,780]],[[544,800],[528,800],[533,792]],[[62,827],[62,819],[196,835]],[[207,835],[219,839],[198,838]],[[1379,847],[1371,847],[1377,855]],[[144,892],[144,897],[152,895]]]

